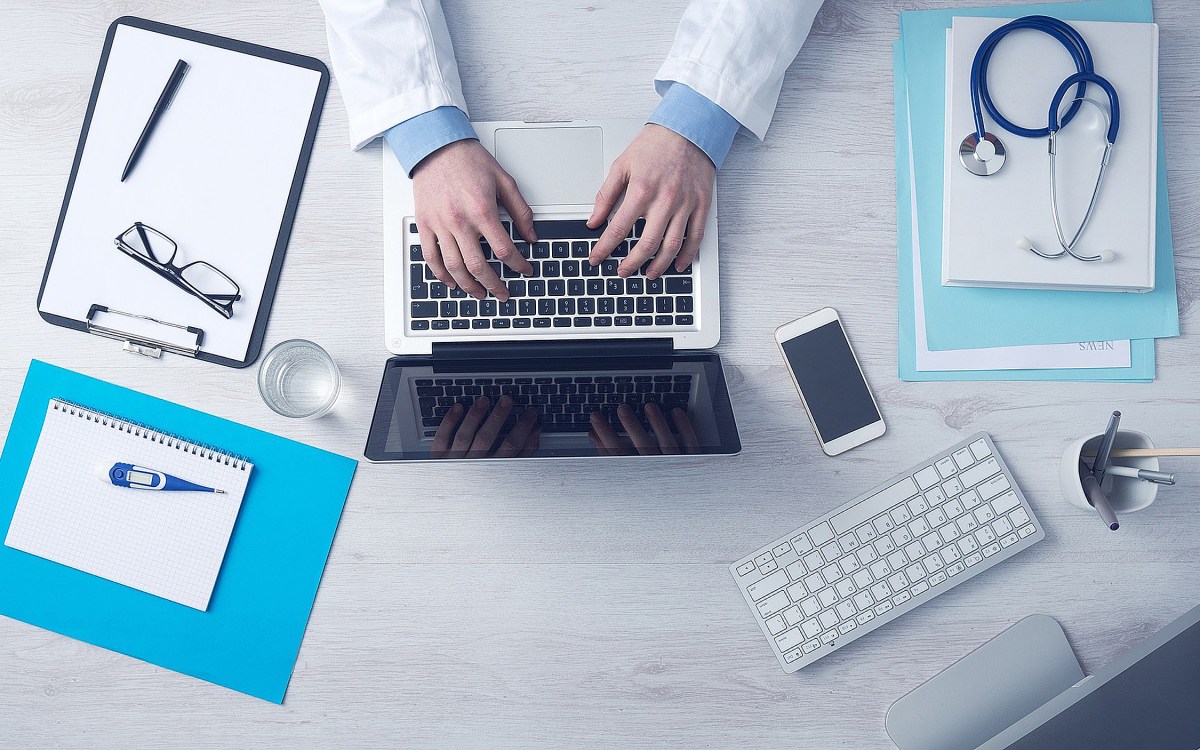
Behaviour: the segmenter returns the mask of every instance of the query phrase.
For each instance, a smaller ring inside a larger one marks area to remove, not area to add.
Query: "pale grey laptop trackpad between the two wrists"
[[[530,205],[590,204],[604,182],[599,127],[510,127],[496,131],[496,161]]]

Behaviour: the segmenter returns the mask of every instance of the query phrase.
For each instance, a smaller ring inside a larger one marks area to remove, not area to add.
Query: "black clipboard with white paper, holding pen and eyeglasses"
[[[190,70],[137,168],[120,181],[178,60]],[[329,70],[316,58],[134,17],[109,25],[37,294],[54,325],[229,367],[262,350]],[[176,263],[234,278],[226,319],[127,257],[136,222],[168,235]]]

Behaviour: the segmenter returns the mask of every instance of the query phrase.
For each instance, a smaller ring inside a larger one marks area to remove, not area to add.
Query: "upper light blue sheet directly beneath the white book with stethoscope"
[[[946,115],[946,30],[955,16],[1015,18],[1049,13],[1068,20],[1152,20],[1150,0],[908,11],[900,36],[908,79],[911,133],[922,217],[920,265],[930,349],[1031,343],[1159,338],[1180,332],[1166,199],[1166,160],[1158,148],[1158,229],[1154,290],[1049,292],[942,286],[942,164]],[[928,217],[928,218],[926,218]]]

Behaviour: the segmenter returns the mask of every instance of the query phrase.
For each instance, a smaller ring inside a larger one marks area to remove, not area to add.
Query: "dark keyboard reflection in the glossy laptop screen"
[[[600,412],[620,431],[617,407],[656,403],[665,408],[688,408],[692,376],[688,373],[416,378],[416,398],[425,437],[433,437],[442,419],[456,403],[470,408],[480,396],[493,402],[512,400],[510,422],[527,408],[540,413],[542,432],[587,432],[592,412]],[[511,426],[511,425],[509,425]]]

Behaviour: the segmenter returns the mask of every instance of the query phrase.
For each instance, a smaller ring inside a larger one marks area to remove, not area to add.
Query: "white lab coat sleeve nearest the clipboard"
[[[467,112],[440,0],[320,0],[320,6],[352,148],[438,107]]]

